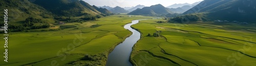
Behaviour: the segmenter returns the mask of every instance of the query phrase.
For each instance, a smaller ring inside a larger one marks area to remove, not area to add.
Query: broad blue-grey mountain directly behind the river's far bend
[[[167,8],[164,6],[158,4],[158,5],[153,5],[150,7],[144,7],[142,9],[136,9],[129,14],[131,15],[163,15],[163,14],[169,14],[172,13],[169,11]]]

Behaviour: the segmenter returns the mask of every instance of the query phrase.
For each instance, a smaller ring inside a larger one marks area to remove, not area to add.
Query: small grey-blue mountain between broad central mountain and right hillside
[[[186,6],[179,7],[179,8],[168,8],[168,9],[172,12],[175,12],[175,13],[183,13],[183,12],[185,12],[185,11],[191,9],[191,8],[192,8],[192,6],[186,5]]]

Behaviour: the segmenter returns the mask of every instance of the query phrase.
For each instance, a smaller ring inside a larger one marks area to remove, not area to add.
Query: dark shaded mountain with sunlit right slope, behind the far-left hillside
[[[78,16],[101,14],[91,5],[79,0],[36,0],[33,2],[56,15]]]

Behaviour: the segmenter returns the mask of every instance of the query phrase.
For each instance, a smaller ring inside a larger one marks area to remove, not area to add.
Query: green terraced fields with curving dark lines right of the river
[[[134,65],[256,64],[255,25],[157,21],[163,20],[132,25],[142,34],[133,47],[130,61]],[[160,37],[153,37],[154,33]]]

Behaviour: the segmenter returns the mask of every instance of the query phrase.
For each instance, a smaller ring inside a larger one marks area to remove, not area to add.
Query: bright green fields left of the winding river
[[[132,20],[148,18],[153,17],[112,15],[96,21],[11,32],[9,62],[1,65],[105,65],[114,47],[131,35],[123,25]],[[0,50],[4,50],[4,47],[0,47]]]

